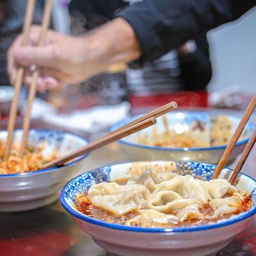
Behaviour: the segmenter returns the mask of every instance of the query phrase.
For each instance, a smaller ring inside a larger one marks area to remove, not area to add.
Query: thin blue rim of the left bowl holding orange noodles
[[[15,129],[15,131],[22,131],[22,129]],[[75,136],[81,140],[83,140],[84,142],[86,142],[87,144],[89,143],[89,141],[84,138],[83,136],[81,135],[78,135],[78,134],[74,134],[72,132],[66,132],[66,131],[61,131],[61,130],[57,130],[57,129],[29,129],[29,132],[31,131],[42,131],[42,132],[47,132],[47,131],[53,131],[53,132],[62,132],[63,134],[70,134],[71,136]],[[7,132],[6,130],[0,130],[0,133],[1,132]],[[76,164],[78,163],[79,161],[83,160],[85,157],[89,156],[90,153],[88,154],[85,154],[83,156],[80,156],[80,157],[77,157],[77,159],[75,159],[74,161],[71,161],[70,163],[67,163],[67,164],[64,164],[63,166],[55,166],[55,167],[51,167],[51,168],[46,168],[46,169],[41,169],[41,170],[36,170],[36,171],[31,171],[31,172],[22,172],[22,173],[10,173],[10,174],[0,174],[0,178],[2,177],[24,177],[24,176],[28,176],[28,175],[33,175],[33,174],[37,174],[37,173],[42,173],[42,172],[51,172],[53,170],[59,170],[63,167],[66,167],[66,166],[72,166],[73,164]]]

